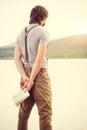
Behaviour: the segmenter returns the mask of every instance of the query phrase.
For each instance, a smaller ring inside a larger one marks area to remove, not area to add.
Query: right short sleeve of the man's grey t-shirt
[[[40,44],[48,44],[50,40],[49,33],[46,30],[42,30],[40,33]]]

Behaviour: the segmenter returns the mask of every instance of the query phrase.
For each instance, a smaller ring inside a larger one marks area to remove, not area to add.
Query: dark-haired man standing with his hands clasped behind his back
[[[17,38],[14,61],[21,74],[21,89],[26,88],[30,93],[20,104],[18,130],[28,130],[28,118],[35,103],[38,108],[40,130],[52,130],[52,94],[46,59],[49,34],[42,27],[47,17],[48,11],[42,6],[35,6],[31,10],[27,26],[28,62],[25,60],[25,29]]]

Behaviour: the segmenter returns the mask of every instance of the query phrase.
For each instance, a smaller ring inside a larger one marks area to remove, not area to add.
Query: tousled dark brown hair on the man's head
[[[41,25],[41,21],[48,17],[48,11],[43,6],[35,6],[30,13],[29,24],[38,23]]]

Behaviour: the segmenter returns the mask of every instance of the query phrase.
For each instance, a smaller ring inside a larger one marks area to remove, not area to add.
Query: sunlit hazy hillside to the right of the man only
[[[48,45],[49,58],[87,58],[87,35],[54,39]]]

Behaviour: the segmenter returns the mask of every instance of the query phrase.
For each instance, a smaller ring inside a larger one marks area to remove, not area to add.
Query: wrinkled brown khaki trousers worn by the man
[[[28,76],[30,76],[31,70],[32,68],[25,68]],[[20,85],[22,86],[23,84],[24,82],[21,79]],[[38,108],[40,130],[52,130],[51,99],[52,94],[48,72],[46,68],[41,68],[35,78],[34,86],[30,90],[30,96],[19,107],[18,130],[28,130],[28,118],[35,103]]]

